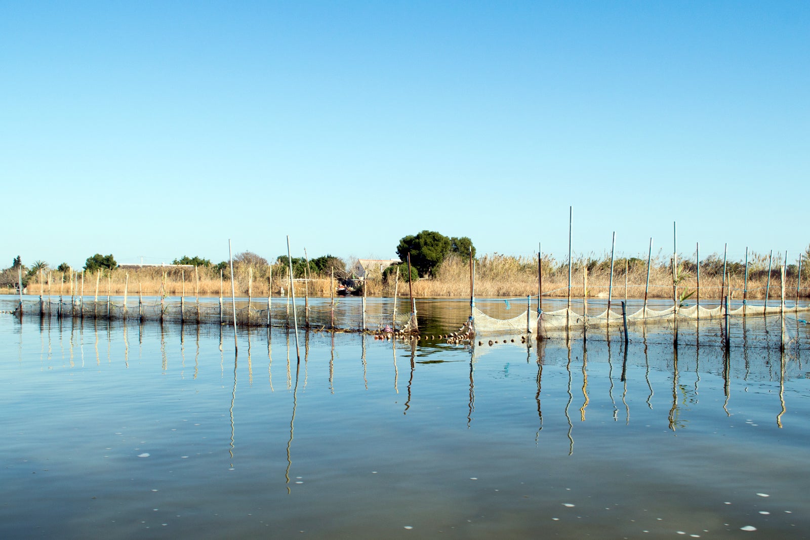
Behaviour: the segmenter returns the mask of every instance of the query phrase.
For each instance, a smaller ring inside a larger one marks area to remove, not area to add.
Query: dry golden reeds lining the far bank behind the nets
[[[781,296],[780,261],[774,260],[770,271],[770,300]],[[557,298],[568,296],[568,264],[558,262],[545,256],[543,266],[543,294]],[[679,263],[678,294],[683,291],[697,291],[697,267],[694,261]],[[748,266],[748,300],[764,300],[768,287],[767,257],[752,256]],[[584,296],[583,277],[587,275],[587,296],[589,298],[608,298],[611,272],[609,257],[578,257],[572,265],[571,291],[573,299]],[[718,270],[719,268],[719,270]],[[740,262],[729,262],[727,278],[723,288],[722,261],[717,257],[707,257],[701,261],[701,281],[699,300],[719,300],[729,294],[730,300],[742,300],[744,295],[744,265]],[[803,268],[804,270],[804,268]],[[288,271],[282,265],[252,268],[237,266],[234,270],[234,289],[237,296],[266,297],[269,294],[279,296],[287,294],[289,287]],[[798,291],[800,298],[810,296],[810,276],[805,274],[803,287]],[[626,276],[626,279],[625,279]],[[647,279],[646,261],[639,259],[617,259],[614,261],[612,298],[616,301],[627,298],[642,298]],[[785,279],[785,296],[795,299],[799,273],[795,265],[787,266]],[[625,287],[626,282],[626,287]],[[97,288],[96,288],[97,284]],[[296,280],[296,296],[328,297],[334,294],[332,279],[329,275],[316,274],[307,282]],[[475,260],[475,296],[478,297],[521,297],[535,296],[538,286],[536,257],[509,257],[505,255],[484,255]],[[393,296],[394,280],[383,282],[382,279],[369,279],[366,283],[368,296]],[[451,255],[441,264],[437,275],[423,278],[412,284],[416,297],[466,297],[470,295],[469,261],[463,257]],[[163,270],[159,267],[137,270],[104,270],[100,274],[77,272],[73,278],[69,273],[51,271],[36,276],[28,283],[26,294],[38,296],[121,296],[130,297],[139,293],[148,296],[230,296],[230,269],[219,270],[198,267],[188,270]],[[0,290],[0,293],[15,294],[13,289]],[[408,283],[399,279],[399,296],[408,296]],[[654,259],[650,265],[649,298],[673,298],[673,277],[671,261]],[[698,300],[697,294],[689,297],[689,302]]]

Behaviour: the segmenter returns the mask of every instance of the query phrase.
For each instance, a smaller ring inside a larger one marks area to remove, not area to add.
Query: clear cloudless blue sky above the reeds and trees
[[[810,2],[0,1],[16,255],[810,243]]]

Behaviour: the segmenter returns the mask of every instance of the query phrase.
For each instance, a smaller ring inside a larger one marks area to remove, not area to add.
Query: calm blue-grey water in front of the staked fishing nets
[[[0,538],[808,538],[810,351],[750,330],[301,331],[298,364],[284,329],[0,314]]]

